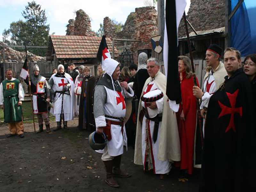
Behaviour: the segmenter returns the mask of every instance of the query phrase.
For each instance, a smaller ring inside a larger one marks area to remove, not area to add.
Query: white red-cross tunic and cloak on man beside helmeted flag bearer
[[[52,87],[56,93],[54,110],[56,121],[60,121],[60,115],[64,113],[65,121],[73,120],[74,118],[74,82],[72,77],[65,73],[65,77],[52,76],[54,85]],[[63,91],[63,87],[67,84],[70,84],[70,91],[66,91],[65,94],[59,93]],[[62,97],[63,97],[63,106],[62,106]],[[61,111],[62,109],[62,111]]]

